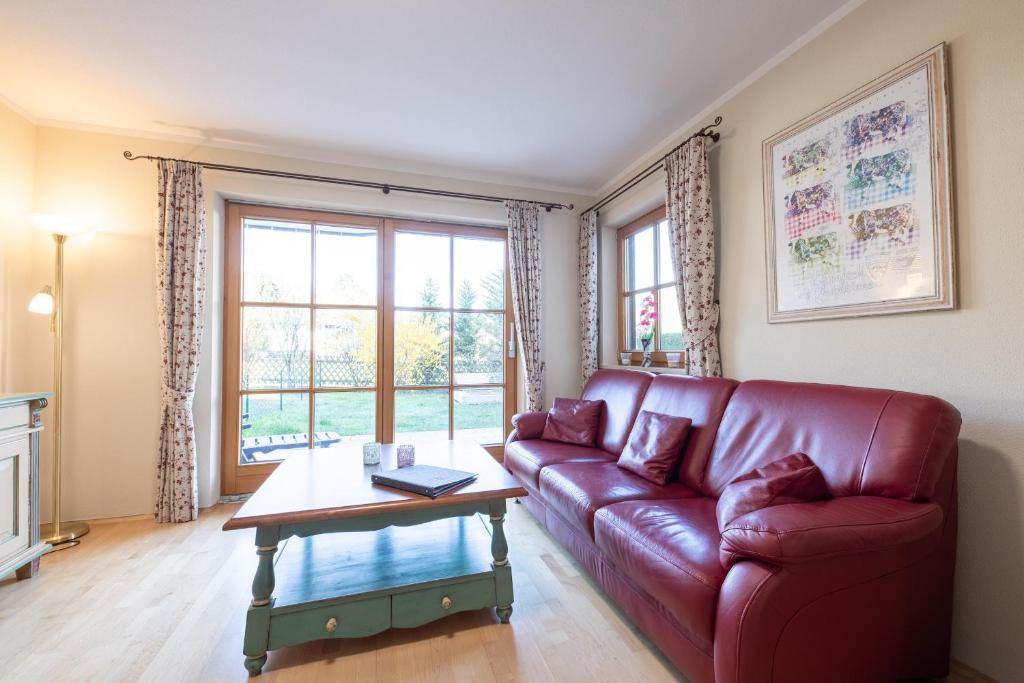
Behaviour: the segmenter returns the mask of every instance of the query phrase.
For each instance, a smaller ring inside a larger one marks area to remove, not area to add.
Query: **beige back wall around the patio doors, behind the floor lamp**
[[[4,140],[6,141],[6,129]],[[306,173],[426,184],[463,191],[575,202],[581,198],[464,180],[389,173],[289,160],[176,142],[40,127],[35,131],[35,211],[78,216],[97,232],[67,248],[65,509],[72,519],[152,511],[159,423],[160,355],[154,293],[156,168],[121,154],[188,157]],[[29,155],[31,162],[31,155]],[[220,265],[225,198],[365,213],[504,224],[501,205],[345,188],[223,172],[205,174],[209,213],[207,334],[196,399],[201,504],[219,495]],[[579,391],[579,351],[564,340],[577,335],[575,215],[542,213],[548,335],[546,395]],[[35,231],[32,231],[35,232]],[[20,274],[30,292],[51,280],[48,238],[32,236],[35,260]],[[24,309],[25,296],[17,304]],[[12,347],[24,367],[10,389],[49,386],[46,321],[29,316],[32,337]],[[44,464],[48,450],[44,451]],[[44,472],[45,475],[45,472]],[[48,490],[44,487],[44,510]]]

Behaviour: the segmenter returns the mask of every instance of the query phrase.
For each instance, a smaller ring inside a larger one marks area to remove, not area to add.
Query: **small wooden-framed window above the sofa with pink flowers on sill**
[[[643,339],[649,338],[655,364],[664,364],[663,351],[683,350],[670,249],[664,207],[618,229],[618,347],[641,351]],[[648,324],[644,323],[645,308],[655,313]]]

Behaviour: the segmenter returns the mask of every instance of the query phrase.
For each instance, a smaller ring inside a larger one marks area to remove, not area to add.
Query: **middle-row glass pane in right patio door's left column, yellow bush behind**
[[[424,386],[449,383],[450,315],[450,313],[412,310],[394,312],[396,385]]]

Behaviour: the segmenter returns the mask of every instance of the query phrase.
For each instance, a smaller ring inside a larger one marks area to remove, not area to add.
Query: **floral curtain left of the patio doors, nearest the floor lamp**
[[[199,516],[193,399],[206,298],[206,207],[200,166],[158,163],[157,304],[163,374],[154,516],[160,522],[186,522]]]

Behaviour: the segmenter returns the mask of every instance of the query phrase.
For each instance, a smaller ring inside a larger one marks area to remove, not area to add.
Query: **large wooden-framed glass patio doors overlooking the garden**
[[[223,489],[299,449],[469,438],[515,404],[505,231],[241,204],[225,230]]]

